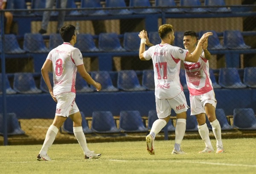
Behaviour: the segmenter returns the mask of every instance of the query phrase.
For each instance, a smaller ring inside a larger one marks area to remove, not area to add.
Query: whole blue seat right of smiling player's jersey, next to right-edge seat
[[[235,67],[220,68],[218,84],[224,88],[246,88]]]

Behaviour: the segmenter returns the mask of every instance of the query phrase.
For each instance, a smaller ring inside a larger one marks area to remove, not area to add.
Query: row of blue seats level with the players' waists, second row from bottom
[[[243,70],[243,80],[241,80],[239,70],[237,68],[220,68],[218,73],[218,83],[212,69],[210,79],[214,89],[218,88],[256,88],[256,67],[246,67]],[[102,92],[116,91],[145,91],[154,90],[154,71],[143,70],[142,80],[134,70],[121,70],[119,72],[93,71],[90,72],[93,79],[102,84]],[[112,77],[111,77],[112,76]],[[115,77],[113,77],[115,76]],[[52,74],[49,75],[53,85]],[[243,81],[243,82],[242,82]],[[185,70],[180,70],[180,82],[183,89],[187,89]],[[0,74],[0,94],[2,93],[2,75]],[[13,87],[12,87],[13,86]],[[116,86],[116,87],[115,87]],[[89,86],[84,79],[77,74],[76,92],[86,93],[95,91],[93,86]],[[10,85],[9,78],[6,76],[6,93],[7,94],[32,94],[32,93],[48,93],[48,88],[44,79],[40,78],[40,87],[35,82],[33,73],[14,73],[13,85]]]

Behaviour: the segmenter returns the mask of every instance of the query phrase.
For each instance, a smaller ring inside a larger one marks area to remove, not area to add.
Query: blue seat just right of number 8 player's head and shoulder
[[[91,34],[77,34],[75,46],[81,52],[99,51],[99,49],[96,48],[93,36]]]

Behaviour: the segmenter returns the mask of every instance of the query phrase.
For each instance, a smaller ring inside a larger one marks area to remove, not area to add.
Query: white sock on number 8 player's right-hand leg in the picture
[[[87,148],[86,138],[85,138],[82,126],[73,127],[73,132],[79,145],[84,151],[84,155],[90,155],[91,151]]]

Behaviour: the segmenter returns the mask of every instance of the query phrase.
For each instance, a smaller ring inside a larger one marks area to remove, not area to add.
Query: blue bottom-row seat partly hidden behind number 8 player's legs
[[[88,123],[85,119],[84,112],[81,112],[81,117],[82,117],[82,127],[83,127],[83,132],[84,133],[92,133],[93,131],[89,128]],[[67,118],[67,120],[64,122],[63,126],[61,127],[61,131],[73,134],[73,121],[71,118]]]

